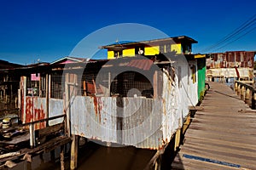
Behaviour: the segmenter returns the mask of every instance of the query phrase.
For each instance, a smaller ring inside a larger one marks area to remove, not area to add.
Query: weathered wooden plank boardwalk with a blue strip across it
[[[209,84],[172,169],[256,169],[256,111],[224,84]]]

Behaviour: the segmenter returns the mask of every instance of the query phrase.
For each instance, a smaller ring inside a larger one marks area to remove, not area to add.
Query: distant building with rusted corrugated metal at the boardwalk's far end
[[[211,81],[234,82],[235,79],[253,80],[255,51],[228,51],[209,54],[207,77]]]

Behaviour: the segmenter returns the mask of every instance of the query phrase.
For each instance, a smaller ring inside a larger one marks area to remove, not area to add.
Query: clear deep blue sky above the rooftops
[[[153,26],[170,37],[193,37],[198,41],[193,52],[201,53],[256,14],[255,7],[253,0],[1,0],[0,59],[51,62],[70,54],[91,32],[119,23]],[[256,50],[256,29],[219,51],[227,50]]]

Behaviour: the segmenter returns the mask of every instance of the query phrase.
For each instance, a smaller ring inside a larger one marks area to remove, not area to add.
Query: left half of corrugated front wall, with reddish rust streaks
[[[117,141],[115,107],[114,98],[76,96],[71,105],[72,133],[88,139],[115,143]]]

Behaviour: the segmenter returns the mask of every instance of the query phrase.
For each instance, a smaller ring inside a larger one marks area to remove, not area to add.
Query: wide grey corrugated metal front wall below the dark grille
[[[159,99],[82,97],[71,105],[72,133],[139,148],[162,146]]]

